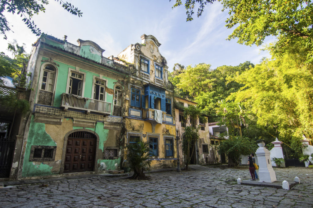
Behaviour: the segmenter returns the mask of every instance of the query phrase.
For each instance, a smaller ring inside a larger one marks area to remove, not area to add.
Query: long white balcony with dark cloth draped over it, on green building
[[[85,110],[87,114],[89,114],[90,111],[107,115],[112,113],[112,103],[105,101],[66,93],[61,94],[61,99],[61,107],[63,107],[64,110],[67,110],[68,108]]]

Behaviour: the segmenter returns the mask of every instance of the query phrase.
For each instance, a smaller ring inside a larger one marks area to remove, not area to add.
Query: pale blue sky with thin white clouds
[[[98,0],[69,1],[78,7],[82,17],[66,12],[53,0],[46,12],[33,20],[42,32],[77,44],[78,39],[90,40],[105,50],[103,56],[117,56],[130,44],[141,43],[142,34],[153,35],[162,44],[160,52],[167,59],[169,70],[175,63],[195,65],[207,63],[215,69],[221,65],[238,65],[244,61],[258,64],[269,54],[262,46],[239,45],[236,40],[226,41],[232,29],[224,27],[228,12],[221,12],[219,2],[207,5],[200,18],[186,22],[184,7],[172,9],[168,0]],[[8,12],[6,12],[8,13]],[[8,40],[16,39],[26,44],[30,52],[38,37],[23,24],[18,15],[5,14],[14,33],[7,33]],[[9,53],[7,41],[0,38],[0,51]],[[271,37],[265,40],[273,42]]]

